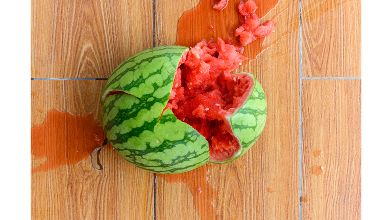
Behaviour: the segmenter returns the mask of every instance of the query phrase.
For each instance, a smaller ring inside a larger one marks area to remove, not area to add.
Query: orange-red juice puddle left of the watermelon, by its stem
[[[32,161],[47,158],[33,166],[31,174],[55,170],[64,165],[75,165],[91,156],[92,151],[101,146],[105,134],[101,125],[92,118],[54,108],[47,112],[47,118],[40,125],[31,128]]]

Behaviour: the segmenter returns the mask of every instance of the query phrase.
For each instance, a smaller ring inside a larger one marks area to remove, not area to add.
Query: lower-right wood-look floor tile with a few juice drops
[[[304,79],[302,106],[302,219],[361,219],[361,80]]]

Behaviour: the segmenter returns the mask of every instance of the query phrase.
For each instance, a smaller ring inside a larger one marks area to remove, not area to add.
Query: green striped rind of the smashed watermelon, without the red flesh
[[[183,46],[158,46],[122,62],[108,78],[101,94],[102,126],[114,149],[134,166],[160,174],[184,173],[210,159],[206,138],[165,108]],[[266,99],[254,79],[252,94],[229,116],[240,149],[226,163],[247,152],[260,136],[266,120]]]

